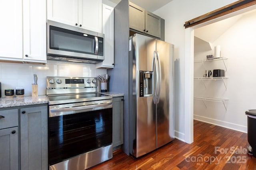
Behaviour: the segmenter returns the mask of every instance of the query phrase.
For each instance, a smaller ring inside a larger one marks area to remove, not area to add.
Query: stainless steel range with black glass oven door
[[[112,158],[112,96],[96,78],[47,77],[50,170],[84,170]]]

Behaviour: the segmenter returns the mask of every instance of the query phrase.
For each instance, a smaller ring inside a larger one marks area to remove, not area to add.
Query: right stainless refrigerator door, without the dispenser
[[[161,68],[161,80],[156,104],[156,148],[174,139],[174,45],[156,40],[156,51]]]

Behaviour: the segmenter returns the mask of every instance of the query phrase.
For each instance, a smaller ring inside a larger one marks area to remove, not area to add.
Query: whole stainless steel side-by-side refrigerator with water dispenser
[[[174,45],[158,39],[129,39],[129,150],[136,158],[174,139],[173,53]]]

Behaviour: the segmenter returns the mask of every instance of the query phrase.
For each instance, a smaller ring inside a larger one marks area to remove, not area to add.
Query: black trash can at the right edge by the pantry
[[[256,157],[256,109],[247,110],[247,140],[250,146],[247,148],[248,154]]]

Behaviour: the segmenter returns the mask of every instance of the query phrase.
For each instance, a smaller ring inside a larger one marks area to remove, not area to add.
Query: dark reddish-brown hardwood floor
[[[146,145],[146,144],[145,144]],[[256,158],[248,155],[247,134],[194,121],[194,143],[178,139],[140,158],[115,150],[113,158],[92,170],[256,170]]]

